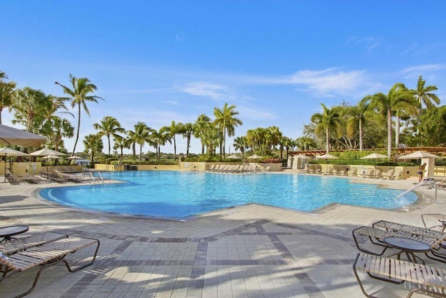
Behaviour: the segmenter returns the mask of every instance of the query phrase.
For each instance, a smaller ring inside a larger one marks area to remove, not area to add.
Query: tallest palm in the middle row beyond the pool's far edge
[[[224,104],[223,109],[214,107],[215,124],[222,130],[223,140],[220,142],[220,156],[223,154],[223,158],[226,157],[224,148],[226,146],[226,133],[231,137],[235,133],[236,126],[243,125],[243,122],[235,117],[238,115],[238,112],[234,110],[235,108],[235,105],[228,106],[228,103]]]

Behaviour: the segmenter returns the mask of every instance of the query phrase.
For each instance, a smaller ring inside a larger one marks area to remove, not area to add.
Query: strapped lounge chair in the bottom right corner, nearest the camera
[[[374,297],[364,289],[357,271],[365,271],[372,278],[391,283],[408,281],[415,288],[410,289],[407,297],[411,297],[415,292],[446,296],[446,271],[440,268],[358,253],[353,264],[353,272],[364,295]],[[389,295],[389,293],[385,294]]]

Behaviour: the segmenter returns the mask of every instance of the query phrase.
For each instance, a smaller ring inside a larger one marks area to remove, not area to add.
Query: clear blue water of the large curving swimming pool
[[[177,171],[107,172],[122,184],[43,188],[47,200],[122,214],[184,217],[249,202],[312,211],[332,202],[394,209],[417,200],[408,193],[348,179],[298,174],[215,174]]]

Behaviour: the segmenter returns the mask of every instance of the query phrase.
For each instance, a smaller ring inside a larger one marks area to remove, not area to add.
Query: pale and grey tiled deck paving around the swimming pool
[[[414,182],[359,180],[403,190]],[[63,264],[45,269],[27,297],[364,297],[352,270],[351,231],[380,219],[422,226],[421,214],[446,214],[446,191],[438,190],[445,203],[435,203],[434,191],[421,187],[424,202],[399,211],[334,205],[306,214],[250,204],[166,221],[47,204],[32,195],[46,185],[0,184],[0,225],[98,238],[101,246],[82,271],[70,273]],[[27,290],[37,271],[2,281],[0,297]],[[366,285],[379,297],[407,294],[401,285],[370,278]]]

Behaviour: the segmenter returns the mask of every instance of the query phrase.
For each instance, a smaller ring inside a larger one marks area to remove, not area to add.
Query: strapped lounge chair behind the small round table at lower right
[[[353,239],[355,240],[355,244],[357,249],[364,253],[371,253],[372,255],[383,255],[387,248],[386,244],[383,243],[383,239],[385,237],[401,237],[406,239],[413,239],[420,241],[428,246],[431,246],[431,251],[424,253],[428,258],[432,260],[437,260],[439,262],[446,262],[446,251],[443,248],[443,241],[446,241],[446,233],[442,233],[441,237],[438,239],[420,236],[417,234],[410,234],[408,232],[401,231],[391,231],[391,230],[383,230],[380,228],[373,228],[363,226],[353,230]],[[367,237],[372,244],[376,246],[380,246],[382,248],[381,251],[370,251],[362,245],[362,241],[358,241],[359,237]],[[361,242],[361,244],[360,244]]]

